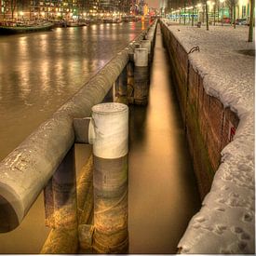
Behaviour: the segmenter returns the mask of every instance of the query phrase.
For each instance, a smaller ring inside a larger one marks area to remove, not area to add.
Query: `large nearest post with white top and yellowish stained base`
[[[92,107],[94,237],[98,253],[128,252],[128,106]]]

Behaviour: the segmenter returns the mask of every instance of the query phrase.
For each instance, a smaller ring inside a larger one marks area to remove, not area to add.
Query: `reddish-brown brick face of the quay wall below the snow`
[[[206,93],[204,80],[190,65],[188,53],[162,22],[161,30],[203,199],[209,193],[214,174],[221,163],[222,148],[232,140],[239,119],[221,101]]]

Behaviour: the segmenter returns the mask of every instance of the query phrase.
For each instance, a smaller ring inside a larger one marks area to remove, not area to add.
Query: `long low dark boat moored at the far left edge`
[[[39,31],[47,31],[53,28],[52,22],[30,22],[30,23],[15,23],[7,22],[0,26],[0,34],[24,34]]]

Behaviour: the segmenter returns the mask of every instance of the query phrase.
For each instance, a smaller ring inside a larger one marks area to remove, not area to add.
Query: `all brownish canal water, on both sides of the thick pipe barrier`
[[[0,36],[0,159],[145,26],[101,24]],[[76,150],[81,164],[89,150]],[[130,106],[128,180],[129,253],[176,253],[200,201],[159,28],[149,103]],[[49,233],[43,206],[41,194],[16,230],[0,234],[0,253],[40,251]]]

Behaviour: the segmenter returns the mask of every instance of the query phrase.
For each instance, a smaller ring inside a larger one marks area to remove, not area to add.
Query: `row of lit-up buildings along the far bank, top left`
[[[77,19],[129,13],[131,0],[0,0],[0,20]]]

